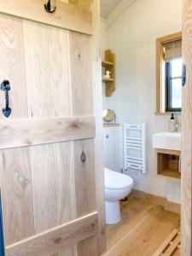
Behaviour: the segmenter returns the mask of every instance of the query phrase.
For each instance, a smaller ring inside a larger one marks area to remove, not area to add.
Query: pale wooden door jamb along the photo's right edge
[[[192,3],[183,0],[183,63],[187,80],[182,109],[182,256],[191,255],[191,169],[192,169]]]

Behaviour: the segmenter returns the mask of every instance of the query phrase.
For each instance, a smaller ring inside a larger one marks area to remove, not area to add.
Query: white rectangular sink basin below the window
[[[153,148],[181,151],[181,133],[160,132],[153,135]]]

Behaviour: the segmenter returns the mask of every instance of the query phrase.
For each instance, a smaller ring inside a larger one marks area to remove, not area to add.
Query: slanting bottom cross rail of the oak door
[[[59,248],[71,246],[96,235],[97,224],[98,212],[91,212],[82,218],[76,218],[6,247],[6,253],[8,256],[45,256],[55,253]]]

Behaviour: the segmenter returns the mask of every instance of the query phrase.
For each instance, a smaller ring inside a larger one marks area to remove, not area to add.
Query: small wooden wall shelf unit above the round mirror
[[[115,55],[110,49],[105,51],[105,60],[102,61],[102,67],[110,71],[111,79],[102,79],[103,83],[106,83],[106,96],[112,96],[113,91],[115,90]]]

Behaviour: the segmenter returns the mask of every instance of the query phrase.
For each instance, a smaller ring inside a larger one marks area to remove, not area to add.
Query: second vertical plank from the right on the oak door
[[[49,69],[52,116],[72,116],[72,86],[69,32],[49,28]],[[77,134],[77,133],[76,133]],[[76,218],[74,143],[55,143],[55,191],[57,224]],[[78,256],[78,247],[64,247],[58,256]]]

